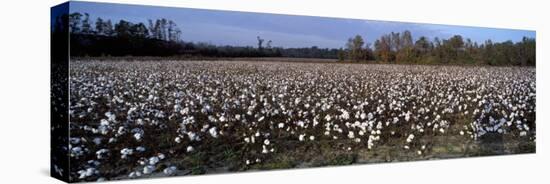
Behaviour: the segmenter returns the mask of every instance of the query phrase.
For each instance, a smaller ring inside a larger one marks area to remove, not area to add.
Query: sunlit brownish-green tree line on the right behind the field
[[[345,49],[340,50],[341,61],[376,60],[387,63],[410,64],[479,64],[521,65],[536,64],[536,41],[523,37],[519,42],[494,43],[486,40],[478,44],[471,39],[454,35],[448,39],[425,36],[413,39],[410,31],[391,32],[378,38],[373,47],[360,35],[349,38]]]

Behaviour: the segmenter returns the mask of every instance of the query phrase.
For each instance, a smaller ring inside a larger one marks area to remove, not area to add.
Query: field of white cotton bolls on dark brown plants
[[[535,152],[534,67],[73,61],[69,85],[74,180]]]

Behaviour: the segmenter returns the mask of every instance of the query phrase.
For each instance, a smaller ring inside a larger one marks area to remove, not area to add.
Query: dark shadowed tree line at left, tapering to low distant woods
[[[71,56],[191,56],[191,57],[299,57],[336,59],[338,49],[273,47],[272,40],[257,37],[257,47],[186,42],[182,30],[168,19],[133,23],[71,13],[66,20],[71,37]],[[61,30],[61,29],[59,29]]]

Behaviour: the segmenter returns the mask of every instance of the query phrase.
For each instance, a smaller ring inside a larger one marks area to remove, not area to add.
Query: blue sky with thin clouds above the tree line
[[[382,34],[411,31],[413,38],[426,36],[449,38],[459,34],[472,41],[483,43],[520,41],[527,36],[535,38],[535,31],[495,29],[436,24],[417,24],[389,21],[373,21],[313,16],[293,16],[235,11],[202,10],[107,4],[92,2],[71,2],[70,12],[89,13],[92,20],[97,17],[118,22],[147,23],[148,19],[166,18],[176,22],[182,30],[184,41],[207,42],[216,45],[256,46],[256,36],[272,40],[272,46],[340,48],[354,35],[361,35],[373,43]]]

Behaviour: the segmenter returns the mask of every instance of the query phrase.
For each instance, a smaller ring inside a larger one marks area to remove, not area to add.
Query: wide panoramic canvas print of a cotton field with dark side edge
[[[67,182],[536,151],[533,30],[76,1],[51,40]]]

